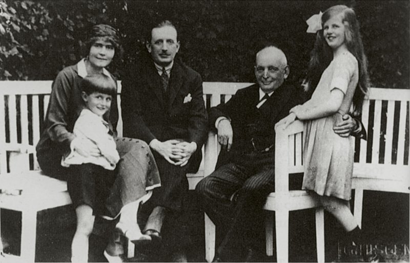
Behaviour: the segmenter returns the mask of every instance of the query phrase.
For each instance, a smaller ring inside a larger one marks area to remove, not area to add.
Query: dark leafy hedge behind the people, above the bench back
[[[178,56],[206,81],[253,82],[255,52],[265,42],[288,56],[291,78],[304,77],[315,36],[305,20],[335,4],[353,6],[361,22],[373,87],[409,88],[409,2],[391,1],[5,1],[0,0],[1,79],[54,79],[84,56],[88,30],[120,32],[124,63],[145,52],[149,24],[170,19]],[[394,17],[394,19],[392,19]]]

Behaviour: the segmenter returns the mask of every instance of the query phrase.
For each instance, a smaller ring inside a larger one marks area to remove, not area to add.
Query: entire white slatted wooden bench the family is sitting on
[[[220,102],[227,102],[237,89],[249,85],[249,83],[204,83],[206,105],[212,107]],[[0,82],[0,188],[17,190],[1,194],[0,207],[22,212],[21,253],[19,256],[7,255],[10,261],[34,261],[38,211],[71,203],[66,183],[42,175],[35,158],[33,146],[39,139],[40,123],[47,109],[50,91],[51,81]],[[364,190],[409,192],[409,180],[407,173],[404,172],[408,171],[409,97],[410,90],[372,88],[370,97],[364,103],[363,123],[366,130],[373,134],[373,139],[367,142],[360,140],[361,151],[358,154],[358,163],[355,164],[354,211],[359,222]],[[119,99],[118,96],[118,105],[120,105]],[[395,122],[397,114],[399,117]],[[17,119],[16,116],[19,118]],[[117,130],[121,135],[121,118]],[[289,211],[313,207],[317,207],[318,261],[324,261],[323,210],[318,207],[317,200],[305,191],[289,191],[289,175],[303,172],[302,131],[303,125],[296,122],[276,136],[275,193],[269,195],[264,209],[276,213],[278,262],[288,261]],[[385,134],[385,140],[380,140],[380,134]],[[372,147],[367,148],[367,144]],[[198,173],[188,174],[190,189],[194,189],[203,176],[209,175],[214,170],[219,150],[215,134],[209,134],[208,143],[202,150],[204,150],[204,158]],[[22,192],[19,193],[18,190]],[[266,228],[268,255],[273,253],[273,220],[273,213],[270,213],[267,216]],[[214,256],[215,229],[207,216],[205,238],[206,257],[210,261]]]

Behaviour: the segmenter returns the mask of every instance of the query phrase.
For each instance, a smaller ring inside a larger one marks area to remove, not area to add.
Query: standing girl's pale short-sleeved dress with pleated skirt
[[[354,138],[333,131],[336,123],[349,112],[359,79],[359,67],[353,54],[346,51],[334,57],[323,71],[312,95],[312,105],[329,99],[334,88],[344,93],[337,113],[304,124],[304,176],[302,189],[319,195],[350,200],[354,161]]]

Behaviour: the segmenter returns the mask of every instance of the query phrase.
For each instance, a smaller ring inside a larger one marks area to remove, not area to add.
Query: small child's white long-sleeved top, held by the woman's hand
[[[108,123],[102,117],[89,109],[83,109],[74,124],[73,133],[77,138],[91,140],[95,143],[102,156],[85,157],[71,148],[71,152],[61,158],[61,166],[69,167],[70,165],[91,163],[107,170],[114,170],[119,161],[119,155],[109,130]]]

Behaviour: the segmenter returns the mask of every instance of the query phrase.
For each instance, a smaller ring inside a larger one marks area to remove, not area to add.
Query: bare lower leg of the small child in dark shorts
[[[93,231],[93,209],[87,205],[80,205],[75,209],[77,228],[71,243],[71,262],[88,262],[88,238]]]

